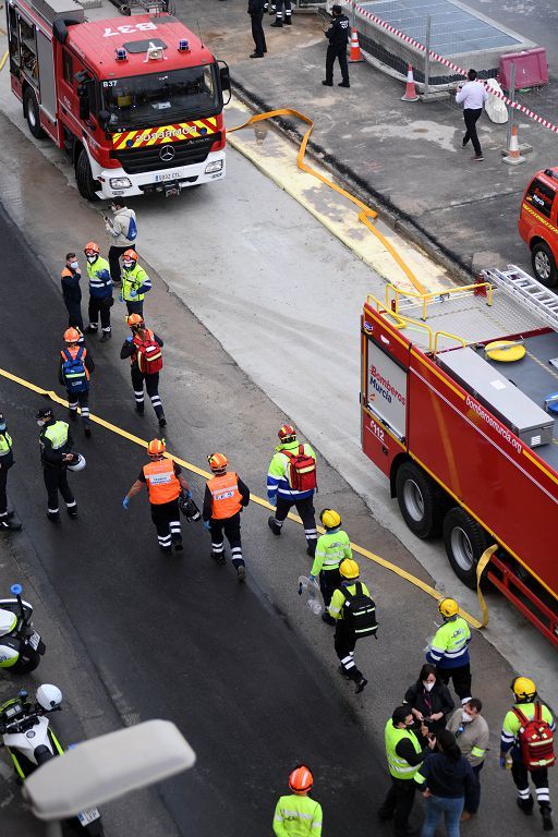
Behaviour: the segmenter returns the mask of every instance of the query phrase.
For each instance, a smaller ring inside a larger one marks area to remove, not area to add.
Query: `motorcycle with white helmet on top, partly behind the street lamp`
[[[60,711],[62,692],[56,686],[43,683],[35,698],[35,702],[27,700],[27,692],[22,689],[17,698],[0,705],[0,747],[7,748],[20,785],[23,785],[37,767],[64,752],[50,720],[46,717]],[[74,835],[102,837],[105,834],[96,808],[82,811],[76,817],[64,823],[64,826],[66,833]]]

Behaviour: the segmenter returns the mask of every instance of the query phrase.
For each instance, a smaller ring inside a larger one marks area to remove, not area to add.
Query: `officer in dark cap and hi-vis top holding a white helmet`
[[[47,488],[47,518],[51,523],[60,523],[58,493],[65,501],[70,518],[77,517],[77,504],[68,485],[68,465],[75,460],[71,452],[72,436],[65,422],[57,422],[51,408],[38,411],[35,418],[41,428],[39,434],[40,462]]]

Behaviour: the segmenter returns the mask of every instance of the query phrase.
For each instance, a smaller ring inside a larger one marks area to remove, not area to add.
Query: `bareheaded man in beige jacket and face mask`
[[[475,777],[475,787],[465,793],[461,822],[470,820],[476,814],[481,804],[481,771],[490,737],[488,724],[481,715],[482,708],[483,704],[478,698],[471,698],[469,703],[457,709],[448,720],[448,729],[456,736],[459,748],[471,765]]]

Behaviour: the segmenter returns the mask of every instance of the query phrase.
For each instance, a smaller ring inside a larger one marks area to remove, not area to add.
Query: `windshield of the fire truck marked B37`
[[[220,107],[213,64],[110,78],[100,86],[109,131],[213,116]]]

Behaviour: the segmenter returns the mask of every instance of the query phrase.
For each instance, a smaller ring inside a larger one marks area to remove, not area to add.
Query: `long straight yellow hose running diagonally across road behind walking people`
[[[19,384],[21,387],[25,387],[26,389],[31,389],[33,392],[37,392],[37,395],[47,397],[51,401],[54,401],[57,404],[61,404],[62,407],[68,407],[68,401],[64,398],[60,398],[56,392],[52,390],[46,390],[41,387],[37,387],[36,384],[32,384],[28,380],[25,380],[25,378],[20,378],[17,375],[12,375],[11,372],[7,372],[5,369],[0,369],[0,376],[8,378],[8,380],[12,380],[14,384]],[[111,433],[117,434],[118,436],[122,436],[122,438],[128,439],[129,441],[133,441],[134,445],[140,445],[142,448],[147,447],[147,441],[145,439],[140,438],[140,436],[134,436],[134,434],[129,433],[128,430],[122,429],[122,427],[118,427],[116,424],[111,424],[110,422],[106,422],[105,418],[101,418],[98,415],[95,415],[94,413],[90,413],[89,418],[92,422],[95,422],[95,424],[100,425],[101,427],[105,427],[105,429],[110,430]],[[182,465],[182,468],[185,468],[186,471],[190,471],[193,474],[197,474],[198,476],[203,476],[204,478],[208,480],[211,477],[211,474],[208,471],[204,471],[201,468],[197,468],[197,465],[193,465],[191,462],[186,462],[184,459],[180,459],[179,457],[174,457],[170,453],[166,454],[169,459],[173,459],[174,462],[178,462],[179,465]],[[262,497],[257,497],[255,494],[251,494],[250,498],[252,502],[256,504],[256,506],[262,506],[264,509],[269,509],[269,511],[275,511],[275,506],[271,506],[267,500],[264,500]],[[302,524],[302,520],[298,517],[298,514],[289,513],[289,518],[291,520],[294,520],[296,523]],[[326,531],[322,526],[317,526],[317,531],[324,534]],[[398,567],[395,563],[391,563],[391,561],[387,561],[385,558],[381,558],[379,555],[375,555],[375,553],[371,553],[368,549],[365,549],[363,546],[359,546],[357,544],[351,543],[351,548],[354,553],[357,553],[359,555],[364,556],[364,558],[368,558],[374,563],[377,563],[379,567],[384,567],[384,569],[389,570],[390,572],[395,572],[396,575],[399,575],[401,579],[404,579],[405,581],[413,584],[415,587],[418,587],[424,593],[427,593],[433,598],[440,602],[442,598],[446,598],[446,596],[442,596],[438,591],[434,590],[429,584],[426,584],[426,582],[422,581],[422,579],[417,579],[416,575],[412,575],[410,572],[407,572],[407,570],[402,570],[400,567]],[[494,547],[496,549],[496,547]],[[493,551],[494,551],[493,549]],[[488,553],[489,550],[487,550]],[[490,553],[492,555],[492,553]],[[483,555],[483,559],[485,558],[486,553]],[[489,555],[485,560],[485,565],[489,559]],[[482,559],[482,560],[483,560]],[[478,565],[481,567],[481,563]],[[484,569],[484,566],[482,569]],[[481,572],[482,572],[481,569]],[[478,573],[478,579],[481,578],[481,572]],[[461,616],[466,619],[466,621],[471,624],[473,628],[484,628],[485,624],[488,621],[488,614],[486,611],[486,605],[484,604],[484,599],[482,598],[481,587],[478,586],[478,602],[481,603],[481,607],[483,609],[483,617],[486,619],[483,619],[482,622],[480,622],[477,619],[475,619],[474,616],[471,616],[465,610],[460,610]]]

